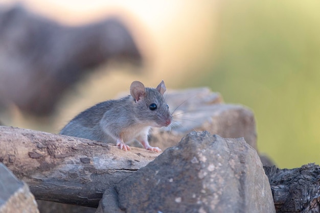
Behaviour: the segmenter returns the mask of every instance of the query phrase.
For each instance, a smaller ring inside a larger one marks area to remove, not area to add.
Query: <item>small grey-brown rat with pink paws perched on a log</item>
[[[172,122],[169,106],[163,97],[162,81],[156,88],[133,81],[130,95],[101,102],[74,117],[61,131],[62,135],[116,143],[120,149],[130,150],[125,143],[138,140],[145,149],[160,152],[148,143],[151,127],[168,127]]]

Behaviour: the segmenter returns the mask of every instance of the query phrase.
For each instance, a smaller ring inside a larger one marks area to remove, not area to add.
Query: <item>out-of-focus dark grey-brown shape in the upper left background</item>
[[[50,115],[66,89],[111,58],[142,63],[117,18],[69,27],[22,6],[0,8],[0,108]]]

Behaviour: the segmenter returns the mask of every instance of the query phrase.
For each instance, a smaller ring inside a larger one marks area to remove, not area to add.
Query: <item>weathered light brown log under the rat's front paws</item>
[[[83,138],[0,127],[0,162],[36,199],[97,207],[104,191],[159,153]]]

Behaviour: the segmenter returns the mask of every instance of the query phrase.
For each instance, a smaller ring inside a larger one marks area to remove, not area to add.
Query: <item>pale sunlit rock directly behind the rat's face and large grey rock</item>
[[[168,92],[167,103],[173,113],[171,129],[154,128],[150,145],[162,150],[175,146],[189,132],[209,131],[226,138],[244,137],[257,150],[257,132],[253,112],[241,105],[224,104],[219,93],[209,88]]]

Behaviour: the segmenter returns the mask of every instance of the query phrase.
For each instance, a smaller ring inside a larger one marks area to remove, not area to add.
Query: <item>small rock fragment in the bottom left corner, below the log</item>
[[[39,212],[26,183],[18,180],[3,163],[0,174],[0,212]]]

